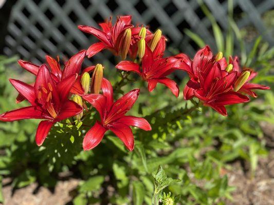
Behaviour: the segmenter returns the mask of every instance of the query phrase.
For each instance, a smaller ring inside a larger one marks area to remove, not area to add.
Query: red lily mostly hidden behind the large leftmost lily
[[[82,51],[78,52],[77,54],[75,54],[74,56],[72,56],[65,63],[64,70],[61,70],[59,59],[56,60],[56,59],[47,55],[46,61],[47,61],[49,68],[51,69],[50,74],[51,74],[51,77],[53,78],[53,80],[56,83],[59,83],[61,80],[70,76],[71,74],[78,74],[78,78],[75,81],[70,92],[74,93],[74,94],[83,94],[84,90],[80,83],[80,79],[81,79],[80,71],[82,68],[82,63],[84,61],[85,55],[86,55],[86,51],[82,50]],[[37,75],[39,72],[40,66],[38,66],[38,65],[32,64],[25,60],[19,60],[18,63],[22,68],[24,68],[25,70],[29,71],[30,73],[32,73],[34,75]],[[94,69],[94,67],[95,66],[88,67],[88,68],[84,69],[82,73],[90,72]],[[19,96],[17,96],[17,98],[16,98],[16,101],[17,101],[17,103],[19,103],[19,102],[23,101],[24,99],[25,98],[19,94]]]

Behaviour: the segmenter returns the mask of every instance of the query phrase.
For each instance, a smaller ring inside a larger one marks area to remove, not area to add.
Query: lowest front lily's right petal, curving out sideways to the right
[[[118,122],[127,126],[134,126],[145,131],[151,130],[149,122],[142,117],[123,116],[118,120]]]

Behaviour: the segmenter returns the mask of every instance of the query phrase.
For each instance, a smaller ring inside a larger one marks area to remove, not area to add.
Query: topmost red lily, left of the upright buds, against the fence
[[[112,51],[116,56],[119,55],[124,31],[132,27],[131,16],[118,16],[114,26],[112,25],[111,20],[112,18],[105,23],[99,24],[102,31],[90,26],[78,26],[81,31],[92,34],[101,41],[91,45],[87,49],[86,54],[88,57],[94,56],[103,49]]]

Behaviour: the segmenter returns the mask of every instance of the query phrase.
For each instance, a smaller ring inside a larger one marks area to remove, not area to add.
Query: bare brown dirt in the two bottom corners
[[[260,158],[253,179],[250,177],[248,163],[236,161],[228,171],[229,185],[236,187],[233,201],[226,200],[228,205],[274,205],[274,127],[262,125],[265,130],[266,145],[270,149],[267,158]],[[11,179],[3,180],[3,194],[6,205],[64,205],[72,204],[71,193],[77,188],[80,180],[70,178],[59,181],[54,191],[39,187],[37,183],[15,190],[12,193]]]

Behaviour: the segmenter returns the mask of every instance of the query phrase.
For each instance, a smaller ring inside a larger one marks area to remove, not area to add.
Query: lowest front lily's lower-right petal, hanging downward
[[[109,130],[111,130],[117,137],[122,140],[127,149],[129,149],[130,151],[133,150],[134,136],[129,126],[122,123],[115,123],[112,126],[109,126]]]

